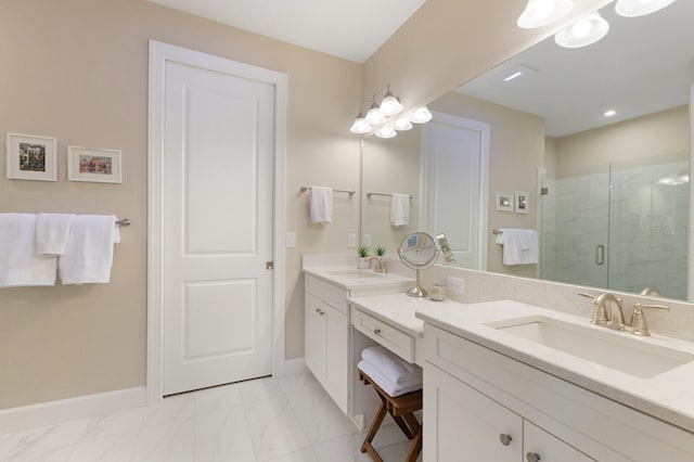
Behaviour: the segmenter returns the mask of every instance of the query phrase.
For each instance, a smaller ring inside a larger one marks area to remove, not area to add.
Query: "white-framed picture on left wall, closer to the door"
[[[97,183],[123,183],[120,151],[67,146],[67,179]]]

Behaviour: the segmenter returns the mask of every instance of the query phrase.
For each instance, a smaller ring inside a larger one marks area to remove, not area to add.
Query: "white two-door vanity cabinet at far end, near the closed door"
[[[304,361],[343,412],[349,409],[349,292],[306,277]]]

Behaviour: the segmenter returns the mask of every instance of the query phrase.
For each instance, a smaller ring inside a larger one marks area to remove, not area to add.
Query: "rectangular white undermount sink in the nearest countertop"
[[[603,328],[535,316],[487,324],[626,374],[650,378],[694,360],[694,355]]]

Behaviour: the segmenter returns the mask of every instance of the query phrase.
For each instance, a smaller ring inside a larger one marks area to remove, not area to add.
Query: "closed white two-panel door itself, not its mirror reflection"
[[[272,372],[274,87],[200,55],[163,79],[164,395]]]

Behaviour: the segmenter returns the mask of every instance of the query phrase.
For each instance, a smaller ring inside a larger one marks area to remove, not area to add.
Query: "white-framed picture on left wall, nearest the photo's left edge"
[[[57,181],[57,140],[8,133],[7,177],[12,180]]]

